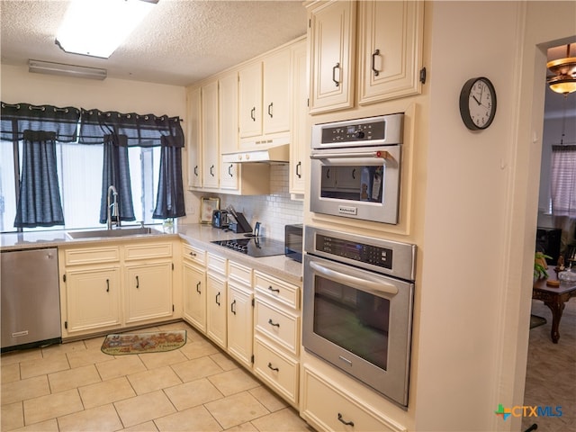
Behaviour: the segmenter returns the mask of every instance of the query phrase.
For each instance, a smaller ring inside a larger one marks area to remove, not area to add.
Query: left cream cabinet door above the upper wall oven
[[[356,2],[310,4],[310,113],[354,106]]]

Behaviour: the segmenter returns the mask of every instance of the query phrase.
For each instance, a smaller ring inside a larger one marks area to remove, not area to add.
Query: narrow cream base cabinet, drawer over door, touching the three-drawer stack
[[[228,262],[228,352],[247,369],[252,368],[252,269]]]

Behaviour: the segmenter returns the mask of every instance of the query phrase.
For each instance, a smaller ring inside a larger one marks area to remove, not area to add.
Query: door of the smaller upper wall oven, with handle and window
[[[311,154],[311,211],[397,223],[401,146]]]

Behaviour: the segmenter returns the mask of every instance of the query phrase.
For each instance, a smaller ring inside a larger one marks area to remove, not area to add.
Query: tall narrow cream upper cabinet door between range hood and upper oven
[[[307,148],[310,140],[308,127],[308,53],[304,41],[293,47],[293,140],[290,145],[289,191],[302,194],[306,188],[308,157]]]

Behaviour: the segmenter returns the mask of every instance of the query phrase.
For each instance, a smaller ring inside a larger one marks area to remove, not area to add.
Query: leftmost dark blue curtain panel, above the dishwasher
[[[14,227],[64,225],[58,186],[56,133],[23,132],[23,168]]]

